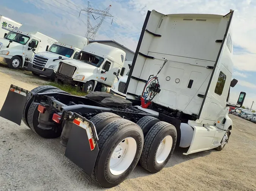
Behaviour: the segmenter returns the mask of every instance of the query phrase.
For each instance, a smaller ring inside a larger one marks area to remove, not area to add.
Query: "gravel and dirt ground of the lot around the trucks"
[[[0,64],[0,108],[9,85],[31,90],[43,77]],[[253,191],[256,190],[256,124],[231,115],[232,134],[222,151],[188,156],[174,151],[157,174],[137,165],[127,180],[109,190]],[[0,117],[0,191],[104,190],[64,156],[60,139],[42,139],[24,123]]]

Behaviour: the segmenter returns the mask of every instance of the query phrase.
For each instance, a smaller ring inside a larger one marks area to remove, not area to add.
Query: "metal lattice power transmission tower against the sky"
[[[104,10],[98,10],[98,9],[93,9],[90,5],[90,2],[88,2],[88,7],[86,9],[82,9],[81,11],[85,11],[87,12],[87,32],[86,32],[86,36],[88,39],[90,40],[95,40],[95,35],[97,33],[97,31],[99,30],[102,22],[104,21],[105,17],[113,17],[111,14],[108,13],[109,9],[111,8],[111,5],[108,6],[108,8],[104,9]],[[92,23],[90,22],[90,14],[93,16],[93,14],[99,15],[99,17],[94,18],[94,20],[99,18],[99,23],[97,23],[95,26],[92,25]],[[113,18],[112,18],[112,22],[113,22]]]

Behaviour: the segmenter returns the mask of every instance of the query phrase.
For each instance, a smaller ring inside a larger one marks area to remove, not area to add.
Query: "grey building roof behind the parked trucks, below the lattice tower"
[[[115,40],[90,40],[89,44],[93,43],[93,42],[97,42],[97,43],[101,43],[101,44],[104,44],[104,45],[120,48],[120,49],[122,49],[123,51],[126,52],[126,61],[132,61],[133,60],[135,52],[133,52],[130,49],[126,48],[125,46],[119,44]]]

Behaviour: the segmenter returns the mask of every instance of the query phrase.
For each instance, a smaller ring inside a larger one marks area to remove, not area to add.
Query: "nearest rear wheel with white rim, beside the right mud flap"
[[[99,133],[99,153],[93,177],[105,188],[123,182],[137,165],[143,148],[143,132],[135,123],[119,119]]]

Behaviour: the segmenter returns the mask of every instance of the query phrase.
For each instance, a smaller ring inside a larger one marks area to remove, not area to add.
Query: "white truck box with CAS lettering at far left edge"
[[[10,18],[0,15],[0,26],[0,38],[4,38],[9,31],[19,29],[21,24],[11,20]]]

